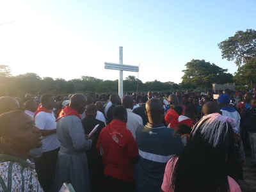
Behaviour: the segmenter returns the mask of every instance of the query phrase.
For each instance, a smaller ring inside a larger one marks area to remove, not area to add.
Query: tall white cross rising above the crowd
[[[131,72],[139,72],[139,67],[135,65],[124,65],[123,64],[123,47],[119,47],[119,64],[105,62],[105,68],[111,70],[119,70],[118,79],[118,95],[123,98],[123,70]]]

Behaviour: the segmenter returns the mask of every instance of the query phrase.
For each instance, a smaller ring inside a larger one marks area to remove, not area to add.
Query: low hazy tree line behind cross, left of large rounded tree
[[[8,72],[8,70],[6,71]],[[152,81],[142,83],[140,79],[129,76],[124,80],[124,92],[136,92],[137,85],[139,92],[148,92],[148,90],[170,92],[179,88],[179,85],[173,82],[162,83],[160,81]],[[103,81],[95,77],[82,76],[81,79],[66,81],[65,79],[52,79],[52,77],[41,78],[33,73],[10,76],[10,70],[9,73],[0,76],[0,96],[11,95],[21,97],[25,93],[63,95],[75,92],[117,93],[118,80]]]

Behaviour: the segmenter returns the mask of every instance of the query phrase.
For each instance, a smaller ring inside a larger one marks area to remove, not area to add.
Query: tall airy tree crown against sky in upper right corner
[[[235,61],[237,66],[241,66],[256,56],[256,31],[253,29],[237,31],[234,36],[228,37],[218,46],[223,59]]]

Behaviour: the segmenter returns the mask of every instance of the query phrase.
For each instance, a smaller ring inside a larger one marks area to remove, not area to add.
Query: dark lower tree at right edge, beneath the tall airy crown
[[[256,83],[256,57],[247,61],[243,66],[239,67],[235,73],[234,80],[237,84]]]

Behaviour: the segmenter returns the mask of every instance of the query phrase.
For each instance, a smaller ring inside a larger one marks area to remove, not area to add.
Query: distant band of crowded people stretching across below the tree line
[[[61,109],[66,106],[72,106],[72,108],[83,113],[86,106],[95,104],[97,111],[104,113],[104,106],[111,101],[113,106],[122,105],[124,108],[133,109],[134,105],[143,106],[147,100],[154,99],[146,105],[146,113],[153,116],[155,119],[156,114],[166,114],[169,109],[174,109],[179,115],[182,113],[189,118],[198,121],[202,116],[209,115],[211,113],[219,113],[220,109],[232,104],[231,100],[236,102],[234,105],[237,111],[241,112],[241,106],[237,106],[240,102],[242,104],[248,104],[250,106],[256,105],[256,98],[254,92],[231,92],[225,90],[222,93],[225,96],[218,102],[213,99],[213,93],[199,93],[199,92],[151,92],[148,93],[125,93],[124,99],[120,99],[117,94],[69,94],[66,96],[56,96],[50,94],[44,94],[39,97],[33,97],[32,95],[26,94],[26,97],[19,99],[13,97],[1,97],[0,99],[0,114],[7,111],[13,111],[15,109],[25,109],[28,111],[36,111],[38,104],[42,104],[44,108],[56,109],[56,116]],[[236,95],[236,100],[234,99]],[[150,111],[150,105],[156,106],[156,99],[159,100],[159,107],[161,109],[155,109],[156,111]],[[162,105],[163,103],[163,105]],[[164,111],[163,111],[164,106]],[[184,108],[186,106],[186,108]],[[185,110],[184,110],[185,109]],[[91,112],[88,112],[91,113]],[[161,118],[163,120],[163,115]],[[160,121],[160,120],[159,120]]]

